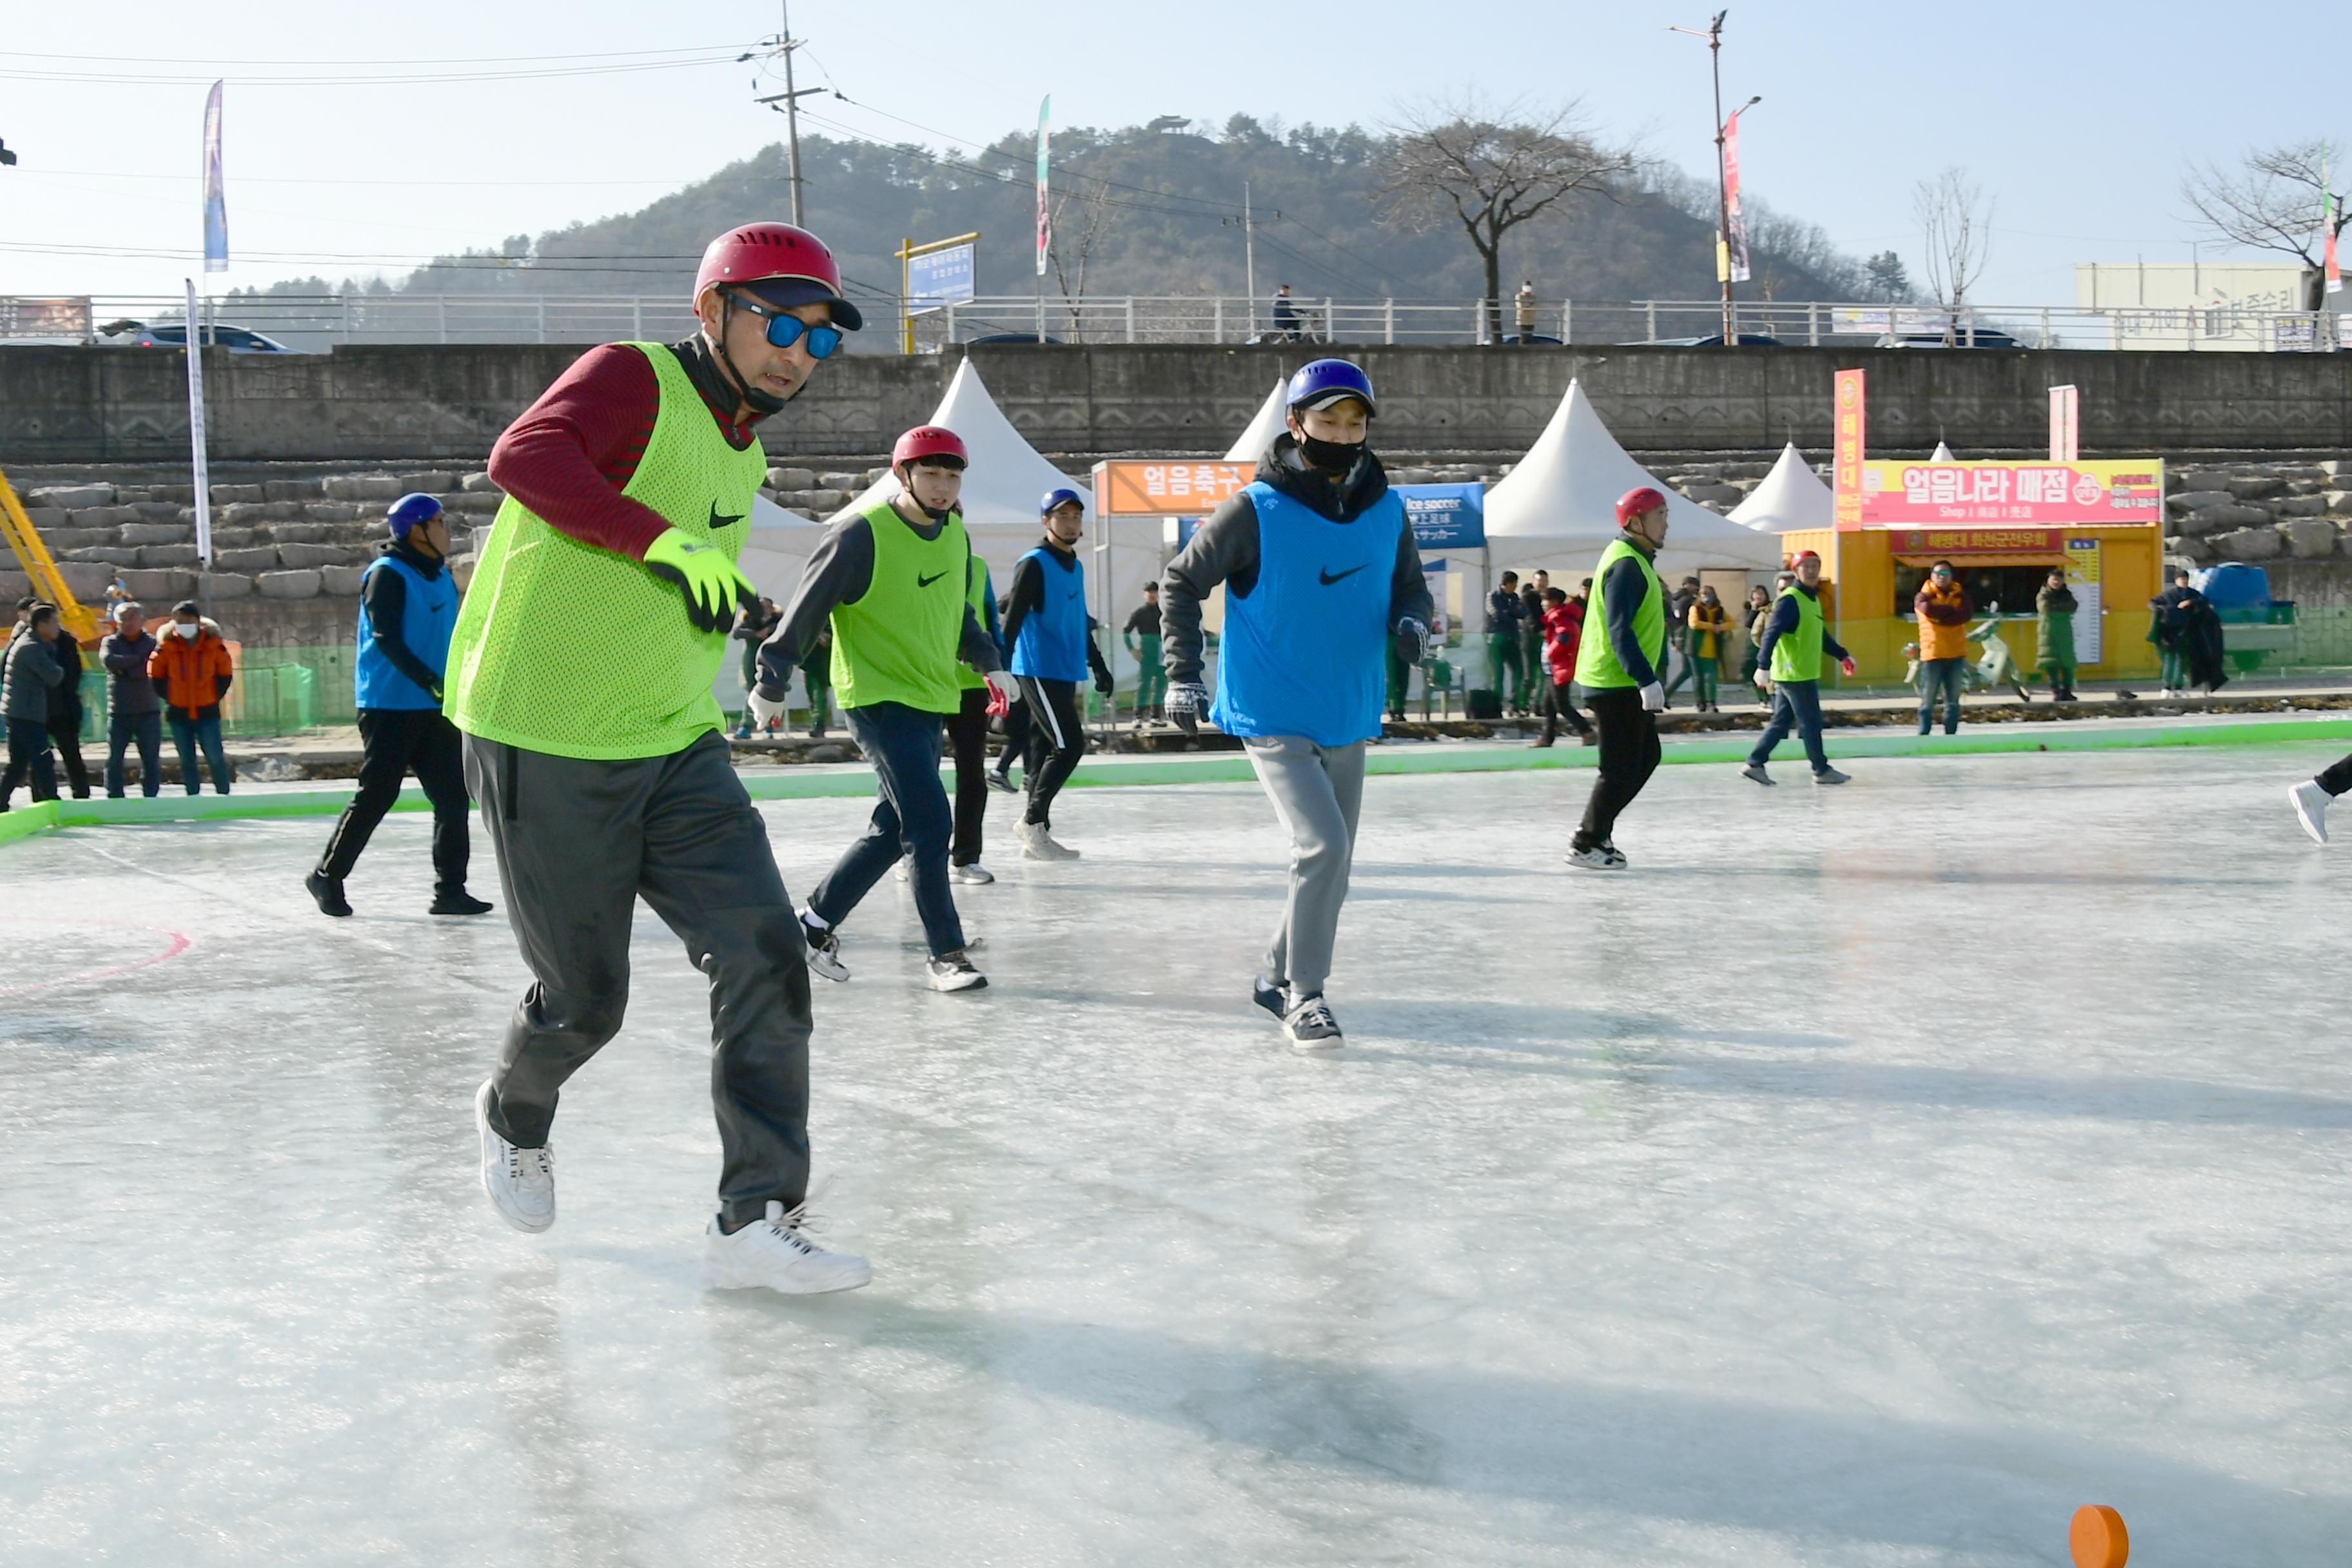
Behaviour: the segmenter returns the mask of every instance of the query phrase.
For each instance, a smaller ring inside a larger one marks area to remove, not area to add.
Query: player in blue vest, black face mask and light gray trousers
[[[1240,736],[1291,835],[1291,886],[1254,999],[1298,1048],[1338,1046],[1324,1001],[1364,799],[1364,743],[1381,733],[1390,646],[1421,663],[1432,616],[1404,501],[1364,442],[1371,378],[1348,360],[1291,376],[1287,430],[1258,475],[1204,522],[1160,583],[1167,715],[1200,726],[1200,604],[1225,585],[1209,717]]]

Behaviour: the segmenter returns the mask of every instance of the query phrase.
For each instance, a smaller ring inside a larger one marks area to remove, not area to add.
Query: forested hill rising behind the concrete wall
[[[1279,132],[1279,134],[1277,134]],[[981,233],[981,294],[1030,294],[1033,169],[1028,132],[985,153],[802,136],[807,221],[842,256],[851,294],[896,296],[898,242]],[[1258,219],[1258,294],[1470,299],[1477,252],[1458,226],[1404,233],[1371,200],[1388,141],[1357,127],[1268,129],[1235,115],[1218,134],[1054,132],[1056,244],[1084,292],[1242,294],[1242,190]],[[1715,183],[1653,169],[1621,200],[1578,197],[1557,219],[1505,237],[1503,289],[1531,277],[1548,301],[1708,299],[1715,292]],[[1809,226],[1750,207],[1757,299],[1853,299],[1860,268]],[[790,214],[783,146],[628,212],[506,240],[437,261],[405,282],[419,292],[668,294],[689,287],[710,235]],[[1279,214],[1279,216],[1277,216]],[[1091,242],[1084,240],[1094,228]],[[313,284],[315,287],[315,284]],[[1054,292],[1054,280],[1049,280]]]

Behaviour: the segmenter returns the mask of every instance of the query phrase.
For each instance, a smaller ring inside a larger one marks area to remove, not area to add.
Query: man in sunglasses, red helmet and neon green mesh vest
[[[863,1286],[802,1232],[809,971],[713,682],[753,597],[736,571],[767,454],[753,430],[856,329],[816,235],[750,223],[694,280],[701,331],[590,348],[489,456],[506,491],[449,644],[449,719],[532,987],[475,1095],[482,1190],[555,1222],[557,1091],[621,1030],[644,898],[710,976],[717,1215],[703,1284]],[[579,628],[562,635],[550,628]]]

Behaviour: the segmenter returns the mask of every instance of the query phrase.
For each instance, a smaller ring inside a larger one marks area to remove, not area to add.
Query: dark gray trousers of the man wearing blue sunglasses
[[[466,783],[499,856],[532,987],[506,1025],[489,1126],[539,1147],[557,1091],[621,1032],[637,898],[710,976],[720,1211],[757,1220],[809,1192],[809,961],[767,823],[727,738],[630,762],[466,736]]]

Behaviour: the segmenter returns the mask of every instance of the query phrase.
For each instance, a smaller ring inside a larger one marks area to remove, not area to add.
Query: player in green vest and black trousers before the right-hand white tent
[[[1642,484],[1618,496],[1618,536],[1592,569],[1599,614],[1585,616],[1576,642],[1576,684],[1585,689],[1592,724],[1602,736],[1599,778],[1585,802],[1585,820],[1569,846],[1569,865],[1588,872],[1621,872],[1618,813],[1632,804],[1658,771],[1658,712],[1665,686],[1665,588],[1651,564],[1665,545],[1665,494]]]

